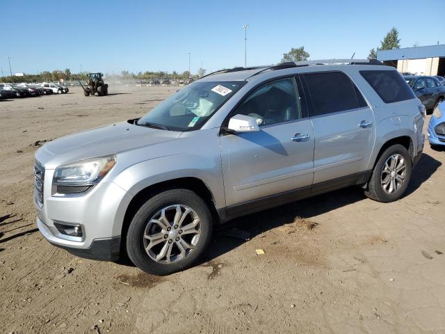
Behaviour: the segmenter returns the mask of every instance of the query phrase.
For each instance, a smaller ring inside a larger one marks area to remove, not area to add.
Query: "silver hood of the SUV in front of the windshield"
[[[174,141],[179,136],[181,132],[120,122],[50,141],[35,152],[35,158],[44,164],[45,168],[54,169],[60,164],[72,161]]]

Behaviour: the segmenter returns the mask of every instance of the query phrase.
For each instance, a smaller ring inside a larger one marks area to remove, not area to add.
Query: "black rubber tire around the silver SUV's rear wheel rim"
[[[394,154],[401,154],[405,161],[405,179],[403,180],[403,183],[401,184],[400,188],[398,188],[393,193],[387,193],[383,189],[382,186],[382,170],[385,166],[385,163],[389,157],[391,157]],[[365,191],[365,195],[371,200],[376,200],[378,202],[394,202],[395,200],[398,200],[403,196],[403,193],[405,193],[408,184],[410,183],[411,178],[411,171],[412,171],[412,160],[410,153],[407,151],[407,149],[403,145],[392,145],[389,148],[385,150],[385,152],[382,153],[380,158],[377,161],[377,164],[375,164],[373,173],[371,175],[371,179],[368,182],[368,187]]]

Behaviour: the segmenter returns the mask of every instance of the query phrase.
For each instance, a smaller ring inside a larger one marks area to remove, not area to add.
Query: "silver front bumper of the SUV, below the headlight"
[[[51,195],[54,170],[45,170],[43,205],[35,202],[37,225],[54,246],[79,257],[118,260],[124,214],[131,196],[113,182],[100,182],[83,196]],[[63,234],[60,223],[81,226],[83,235]]]

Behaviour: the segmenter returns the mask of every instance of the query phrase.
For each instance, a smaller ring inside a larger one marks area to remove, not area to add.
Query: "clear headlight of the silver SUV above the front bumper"
[[[97,184],[116,164],[116,156],[76,161],[62,165],[54,171],[53,184],[93,185]]]

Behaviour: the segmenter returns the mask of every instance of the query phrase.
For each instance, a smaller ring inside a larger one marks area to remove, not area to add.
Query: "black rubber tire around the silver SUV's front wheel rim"
[[[145,228],[156,212],[169,205],[186,205],[200,218],[200,237],[195,248],[183,260],[163,264],[153,260],[144,248]],[[133,216],[127,232],[127,254],[139,269],[146,273],[164,276],[191,267],[204,253],[211,241],[213,222],[206,202],[188,189],[170,189],[156,194],[145,202]]]

